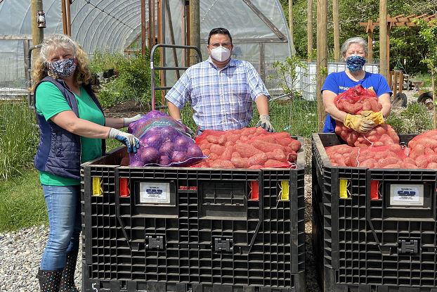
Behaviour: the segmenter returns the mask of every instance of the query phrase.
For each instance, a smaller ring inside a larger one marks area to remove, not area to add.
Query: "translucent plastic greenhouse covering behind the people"
[[[172,43],[170,15],[175,44],[184,44],[185,1],[168,1],[170,13],[165,11],[166,5],[163,5],[162,12],[164,42]],[[148,18],[147,0],[145,4]],[[62,33],[61,1],[44,0],[43,8],[46,15],[44,36]],[[0,1],[0,87],[27,87],[25,43],[32,46],[30,13],[29,0]],[[287,21],[278,0],[200,0],[203,60],[208,57],[207,38],[214,27],[226,27],[233,37],[233,57],[251,62],[267,87],[275,87],[267,78],[272,72],[273,62],[284,61],[294,53]],[[138,39],[141,40],[141,1],[72,0],[71,32],[72,38],[84,47],[91,58],[95,51],[124,52],[128,46],[138,44]],[[170,49],[165,49],[164,56],[164,65],[175,65]],[[178,65],[183,65],[183,50],[178,50],[177,56]],[[169,72],[166,80],[168,85],[172,85],[176,82],[176,76]]]

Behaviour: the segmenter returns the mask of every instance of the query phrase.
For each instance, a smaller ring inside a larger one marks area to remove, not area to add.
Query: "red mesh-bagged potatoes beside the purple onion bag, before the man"
[[[259,128],[206,130],[195,139],[207,159],[193,167],[289,168],[294,167],[301,143],[286,132]]]

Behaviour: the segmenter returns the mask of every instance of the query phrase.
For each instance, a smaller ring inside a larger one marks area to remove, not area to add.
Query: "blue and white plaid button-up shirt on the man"
[[[188,68],[165,98],[178,108],[190,101],[200,129],[225,131],[249,125],[252,101],[261,94],[270,99],[251,63],[230,59],[219,70],[209,58]]]

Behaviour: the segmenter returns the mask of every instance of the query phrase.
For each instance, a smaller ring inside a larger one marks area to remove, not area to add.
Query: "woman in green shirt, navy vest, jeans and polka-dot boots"
[[[70,37],[45,39],[35,62],[35,109],[40,141],[34,165],[44,191],[49,234],[38,278],[41,291],[78,291],[74,269],[81,231],[80,164],[105,152],[104,139],[122,141],[128,152],[140,146],[118,129],[133,118],[105,118],[89,84],[89,60]]]

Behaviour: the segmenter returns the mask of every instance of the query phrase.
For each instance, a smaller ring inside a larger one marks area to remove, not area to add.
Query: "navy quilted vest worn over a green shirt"
[[[72,111],[79,117],[79,109],[77,108],[76,97],[73,92],[67,88],[63,80],[54,80],[52,77],[45,77],[41,82],[51,82],[58,87],[60,92],[67,100],[72,108]],[[98,108],[103,109],[96,98],[96,95],[91,90],[90,85],[82,85],[86,92],[88,92],[91,99],[96,103]],[[44,96],[41,96],[44,98]],[[37,94],[35,94],[35,101]],[[36,111],[36,110],[35,110]],[[39,124],[39,146],[37,155],[34,158],[34,165],[37,170],[58,175],[60,177],[68,177],[70,179],[80,179],[80,158],[81,158],[81,144],[80,137],[77,134],[72,134],[67,130],[59,127],[51,120],[46,121],[43,115],[37,114],[37,121]],[[105,154],[105,139],[102,140],[102,154]]]

